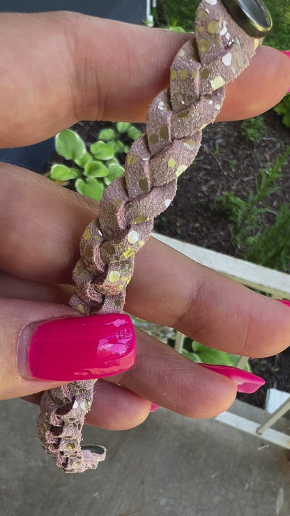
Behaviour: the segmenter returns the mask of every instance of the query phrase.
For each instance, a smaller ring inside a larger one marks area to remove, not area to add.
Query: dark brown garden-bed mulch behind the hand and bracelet
[[[194,243],[201,247],[236,256],[227,220],[213,210],[215,197],[231,190],[242,199],[255,189],[255,177],[261,169],[274,164],[289,144],[290,130],[275,112],[264,114],[265,135],[252,143],[241,135],[241,123],[215,123],[204,130],[201,149],[193,165],[178,179],[178,191],[171,206],[155,221],[161,234]],[[90,144],[107,123],[81,122],[75,130]],[[283,177],[277,181],[279,192],[270,197],[277,209],[280,202],[290,202],[289,161]],[[270,220],[269,220],[270,222]],[[290,309],[289,309],[290,310]],[[289,311],[290,317],[290,311]],[[254,395],[239,395],[251,404],[263,407],[266,391],[275,387],[290,392],[290,348],[265,359],[251,359],[252,370],[266,380],[266,386]]]

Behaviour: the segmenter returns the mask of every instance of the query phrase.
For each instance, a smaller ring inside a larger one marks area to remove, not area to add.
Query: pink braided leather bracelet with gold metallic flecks
[[[201,1],[194,35],[174,58],[169,88],[148,109],[146,132],[130,148],[125,176],[107,187],[99,218],[82,235],[73,308],[83,314],[121,312],[135,252],[174,198],[176,178],[194,160],[201,130],[220,112],[225,84],[248,66],[270,27],[261,0]],[[105,459],[105,448],[80,446],[94,383],[47,390],[40,402],[43,448],[69,473],[95,469]]]

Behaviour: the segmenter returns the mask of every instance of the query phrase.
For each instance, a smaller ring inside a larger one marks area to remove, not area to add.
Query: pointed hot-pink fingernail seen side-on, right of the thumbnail
[[[210,365],[210,364],[201,364],[202,367],[206,367],[206,369],[210,369],[211,371],[217,372],[218,374],[222,374],[224,377],[231,379],[234,381],[234,384],[238,386],[238,393],[247,393],[252,394],[255,393],[262,385],[265,384],[265,381],[257,377],[256,374],[252,374],[251,372],[243,371],[242,369],[238,369],[237,367],[230,367],[229,365]]]

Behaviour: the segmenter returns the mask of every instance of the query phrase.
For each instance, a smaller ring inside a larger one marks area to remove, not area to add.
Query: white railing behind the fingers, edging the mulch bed
[[[169,245],[171,248],[178,250],[190,259],[199,262],[199,264],[212,268],[213,270],[222,273],[247,287],[257,289],[265,294],[270,294],[277,298],[290,299],[289,274],[273,271],[273,269],[256,264],[251,264],[248,261],[223,255],[220,252],[199,248],[197,245],[183,243],[175,240],[174,238],[169,238],[168,236],[163,236],[157,233],[153,233],[152,236]],[[182,352],[184,338],[185,336],[182,333],[176,334],[176,343],[174,347],[179,353]],[[242,368],[246,361],[247,357],[241,356],[238,360],[237,367]],[[263,436],[265,441],[275,443],[278,446],[282,446],[283,448],[290,450],[290,436],[270,428],[289,410],[290,397],[284,401],[280,407],[277,407],[277,409],[266,418],[265,423],[262,425],[228,411],[217,416],[216,420],[257,437]]]

